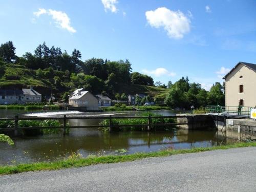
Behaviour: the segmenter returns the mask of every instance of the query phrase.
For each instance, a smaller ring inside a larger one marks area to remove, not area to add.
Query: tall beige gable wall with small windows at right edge
[[[239,93],[241,84],[243,93]],[[241,63],[225,79],[225,104],[238,106],[240,99],[244,106],[256,106],[256,72]]]

